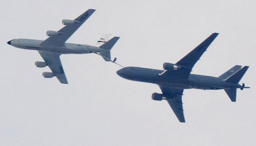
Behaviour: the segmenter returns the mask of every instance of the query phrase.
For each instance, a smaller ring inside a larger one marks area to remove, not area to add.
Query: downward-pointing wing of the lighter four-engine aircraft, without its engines
[[[39,54],[44,59],[45,63],[50,67],[52,73],[57,77],[57,79],[62,84],[68,84],[66,79],[61,61],[60,61],[60,54],[50,53],[46,51],[38,51]]]

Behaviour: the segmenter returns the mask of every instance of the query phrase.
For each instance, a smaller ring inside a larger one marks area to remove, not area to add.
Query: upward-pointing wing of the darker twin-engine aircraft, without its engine
[[[181,65],[182,68],[178,70],[165,71],[162,75],[176,75],[182,79],[188,79],[192,68],[196,64],[196,62],[200,59],[209,45],[214,41],[214,39],[218,36],[218,33],[213,33],[207,39],[205,39],[200,45],[198,45],[195,49],[193,49],[190,53],[188,53],[185,57],[180,59],[176,63],[176,65]]]

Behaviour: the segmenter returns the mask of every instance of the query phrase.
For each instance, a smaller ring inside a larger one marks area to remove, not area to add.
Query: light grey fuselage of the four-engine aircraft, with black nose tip
[[[13,39],[8,41],[9,45],[18,47],[21,49],[30,49],[38,51],[49,51],[58,54],[85,54],[85,53],[96,53],[106,51],[99,47],[94,47],[90,45],[65,43],[65,46],[44,46],[41,45],[42,40],[36,39]]]

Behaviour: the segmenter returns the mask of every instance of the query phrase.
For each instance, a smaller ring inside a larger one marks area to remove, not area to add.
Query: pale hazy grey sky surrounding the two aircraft
[[[176,63],[213,32],[220,33],[193,68],[218,77],[248,65],[232,103],[223,90],[184,91],[186,123],[178,122],[154,84],[123,79],[118,65],[95,54],[62,55],[69,84],[46,79],[36,68],[37,51],[6,42],[46,39],[62,19],[96,12],[67,42],[93,45],[99,33],[121,38],[112,58],[124,66],[162,69]],[[256,143],[255,38],[253,0],[8,0],[0,2],[1,146],[252,146]]]

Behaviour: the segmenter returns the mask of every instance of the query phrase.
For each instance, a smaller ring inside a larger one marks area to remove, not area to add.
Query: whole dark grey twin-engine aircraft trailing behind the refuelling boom
[[[190,74],[196,62],[217,36],[218,33],[210,35],[177,63],[164,63],[164,71],[141,67],[124,67],[116,73],[120,77],[128,80],[154,83],[158,85],[162,94],[153,93],[152,99],[156,101],[166,100],[176,114],[178,120],[180,122],[185,122],[182,107],[182,95],[184,89],[224,89],[231,101],[235,102],[236,89],[243,90],[244,88],[250,88],[245,87],[244,83],[242,85],[238,84],[244,73],[247,71],[248,66],[241,69],[242,66],[235,65],[230,70],[220,75],[220,77]]]

